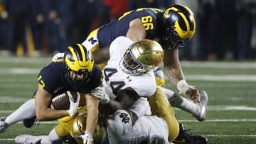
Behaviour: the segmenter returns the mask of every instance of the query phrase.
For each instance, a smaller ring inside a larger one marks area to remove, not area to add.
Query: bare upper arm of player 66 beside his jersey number
[[[139,18],[136,18],[129,23],[129,30],[127,31],[126,37],[134,42],[146,38],[146,30]]]

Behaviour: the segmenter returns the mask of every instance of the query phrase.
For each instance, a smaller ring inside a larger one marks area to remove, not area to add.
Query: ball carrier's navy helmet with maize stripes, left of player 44
[[[95,67],[90,50],[81,44],[70,45],[64,54],[65,77],[68,82],[86,82]],[[73,79],[70,71],[82,74],[82,80]]]

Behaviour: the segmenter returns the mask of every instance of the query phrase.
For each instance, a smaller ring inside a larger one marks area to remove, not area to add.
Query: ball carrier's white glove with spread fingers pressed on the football
[[[78,112],[78,106],[79,106],[79,101],[80,101],[80,94],[78,92],[78,98],[75,101],[73,99],[73,96],[70,93],[70,91],[67,91],[67,93],[68,93],[68,99],[70,101],[70,109],[68,109],[68,113],[70,114],[70,116],[74,116],[75,113]]]

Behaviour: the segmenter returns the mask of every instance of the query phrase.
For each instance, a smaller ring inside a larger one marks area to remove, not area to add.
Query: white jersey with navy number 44
[[[142,97],[149,97],[156,91],[153,70],[146,74],[130,75],[120,67],[122,57],[132,43],[134,43],[132,40],[122,36],[116,38],[110,45],[110,60],[103,70],[104,80],[102,82],[110,99],[116,98],[113,91],[126,89],[127,87],[131,87]]]

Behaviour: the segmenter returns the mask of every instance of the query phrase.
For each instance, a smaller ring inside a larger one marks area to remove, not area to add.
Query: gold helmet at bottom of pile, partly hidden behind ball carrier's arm
[[[87,119],[87,112],[84,111],[80,113],[74,120],[72,133],[77,143],[82,144],[82,140],[76,138],[78,135],[84,135],[86,130],[86,119]]]

